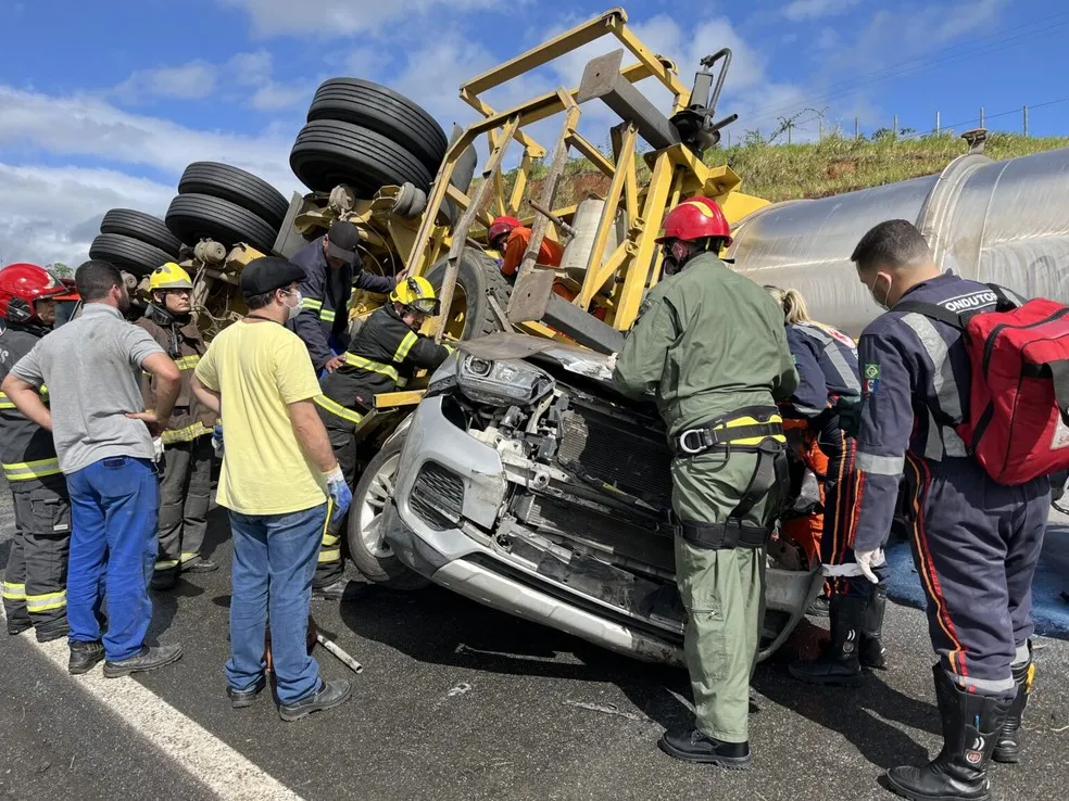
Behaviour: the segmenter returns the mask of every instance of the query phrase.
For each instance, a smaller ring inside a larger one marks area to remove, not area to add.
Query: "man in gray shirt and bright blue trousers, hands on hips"
[[[68,669],[85,673],[105,659],[111,678],[181,657],[178,645],[144,645],[160,506],[152,438],[171,416],[180,376],[163,348],[124,319],[130,300],[117,268],[86,262],[75,283],[85,304],[81,317],[40,340],[0,390],[52,432],[71,494]],[[142,410],[142,370],[158,379],[155,409]],[[51,409],[41,403],[41,384],[49,387]],[[103,637],[100,587],[108,600]]]

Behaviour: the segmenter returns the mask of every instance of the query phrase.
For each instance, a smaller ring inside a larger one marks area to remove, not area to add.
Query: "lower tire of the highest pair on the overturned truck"
[[[301,129],[290,151],[290,167],[313,192],[345,183],[365,200],[382,187],[405,182],[426,192],[435,178],[400,144],[370,128],[334,119],[316,119]]]

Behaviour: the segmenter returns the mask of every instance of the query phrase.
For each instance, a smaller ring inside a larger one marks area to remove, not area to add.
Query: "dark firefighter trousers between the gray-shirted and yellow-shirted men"
[[[160,479],[160,554],[155,574],[177,573],[199,559],[212,493],[212,436],[167,445]]]

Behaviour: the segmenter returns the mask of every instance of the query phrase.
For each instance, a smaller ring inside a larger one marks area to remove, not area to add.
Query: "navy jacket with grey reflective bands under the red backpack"
[[[947,270],[913,287],[902,301],[963,314],[993,309],[998,298],[986,285]],[[893,307],[862,332],[857,349],[862,423],[852,539],[855,550],[873,550],[891,530],[907,454],[913,469],[926,474],[926,462],[952,467],[955,459],[972,458],[955,431],[968,417],[971,370],[960,331]]]

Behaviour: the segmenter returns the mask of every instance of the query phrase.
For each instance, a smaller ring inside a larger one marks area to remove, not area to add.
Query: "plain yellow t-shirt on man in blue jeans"
[[[304,343],[274,322],[236,322],[212,342],[197,378],[222,396],[223,470],[216,501],[242,514],[288,514],[326,503],[289,404],[319,394]]]

